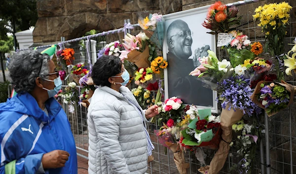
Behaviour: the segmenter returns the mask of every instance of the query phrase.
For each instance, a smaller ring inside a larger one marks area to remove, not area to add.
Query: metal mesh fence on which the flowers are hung
[[[249,0],[251,1],[251,0]],[[296,0],[286,0],[294,8],[296,8]],[[268,2],[280,2],[280,0],[269,0]],[[242,24],[237,28],[237,30],[242,31],[244,34],[249,35],[251,41],[260,41],[264,43],[264,35],[261,33],[260,27],[257,23],[253,21],[252,15],[254,14],[254,9],[259,5],[267,3],[267,0],[259,1],[250,4],[240,5],[240,12],[238,15],[242,15]],[[286,52],[291,49],[288,43],[292,43],[296,35],[296,12],[291,13],[290,19],[290,30],[288,32],[288,37],[285,39]],[[87,64],[87,46],[89,50],[89,57],[95,62],[96,55],[98,51],[103,48],[106,44],[122,40],[124,29],[121,32],[110,32],[108,35],[97,35],[88,36],[80,39],[73,39],[70,41],[62,42],[60,44],[62,47],[73,48],[75,51],[74,64],[79,62],[84,62]],[[131,31],[132,34],[138,34],[140,32],[139,27],[135,27]],[[105,33],[106,34],[106,33]],[[219,57],[224,56],[223,51],[217,49],[217,54]],[[290,79],[290,82],[296,85],[294,77]],[[63,86],[64,88],[65,86]],[[11,91],[11,86],[9,92]],[[63,105],[69,121],[72,125],[71,129],[74,134],[74,139],[77,148],[77,155],[87,159],[88,153],[88,132],[87,132],[87,109],[75,105],[75,113],[70,113],[68,106]],[[258,144],[256,157],[256,165],[253,174],[293,174],[296,173],[296,104],[292,104],[289,108],[281,111],[280,113],[267,118],[262,118],[261,124],[265,125],[267,139],[262,138],[262,143]],[[269,126],[267,126],[269,125]],[[158,130],[159,127],[154,124],[149,124],[149,133],[151,141],[155,146],[152,154],[155,160],[149,164],[147,173],[149,174],[178,174],[178,170],[175,166],[173,159],[173,152],[168,150],[166,153],[165,147],[158,143],[158,139],[154,133],[154,130]],[[261,151],[260,151],[261,149]],[[263,151],[264,149],[264,151]],[[210,164],[211,159],[214,156],[215,151],[203,148],[206,153],[206,163]],[[261,154],[260,154],[261,153]],[[270,163],[268,161],[268,154],[270,155]],[[267,158],[266,158],[267,155]],[[189,174],[199,174],[197,169],[201,166],[194,156],[193,153],[186,151],[185,160],[190,164],[188,169]],[[231,147],[228,160],[221,171],[221,174],[229,174],[229,169],[232,165],[238,164],[239,158],[236,157],[236,149]],[[269,165],[270,164],[270,165]],[[270,171],[270,173],[268,172]]]

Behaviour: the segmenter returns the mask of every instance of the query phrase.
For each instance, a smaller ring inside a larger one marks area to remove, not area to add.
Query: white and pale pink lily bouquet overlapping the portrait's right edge
[[[217,90],[217,82],[231,76],[233,73],[231,71],[232,66],[226,59],[219,61],[213,51],[208,50],[208,53],[208,57],[198,59],[200,66],[191,71],[189,75],[197,76],[199,80],[206,84],[205,87]]]

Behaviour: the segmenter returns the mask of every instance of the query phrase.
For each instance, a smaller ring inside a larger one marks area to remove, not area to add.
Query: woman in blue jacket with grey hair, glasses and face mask
[[[0,104],[0,174],[77,174],[70,123],[53,98],[62,86],[53,61],[23,51],[8,69],[18,95]]]

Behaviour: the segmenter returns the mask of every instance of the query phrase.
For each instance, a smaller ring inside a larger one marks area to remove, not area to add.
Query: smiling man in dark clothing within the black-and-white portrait
[[[195,52],[199,51],[204,40],[193,40],[193,32],[190,30],[188,23],[177,19],[166,26],[167,61],[169,65],[168,94],[169,97],[181,98],[185,104],[212,107],[213,91],[203,87],[201,81],[189,75],[195,68],[195,56],[197,55]],[[201,27],[200,25],[199,28]],[[199,32],[194,31],[194,35],[198,36]],[[199,48],[195,47],[192,51],[193,42],[199,42]],[[198,51],[194,51],[197,49]]]

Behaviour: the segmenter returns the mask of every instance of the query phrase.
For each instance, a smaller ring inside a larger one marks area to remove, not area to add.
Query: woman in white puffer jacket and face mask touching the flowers
[[[158,114],[157,105],[143,111],[125,87],[129,73],[116,56],[103,56],[93,66],[99,86],[88,107],[89,174],[145,174],[154,148],[147,119]]]

